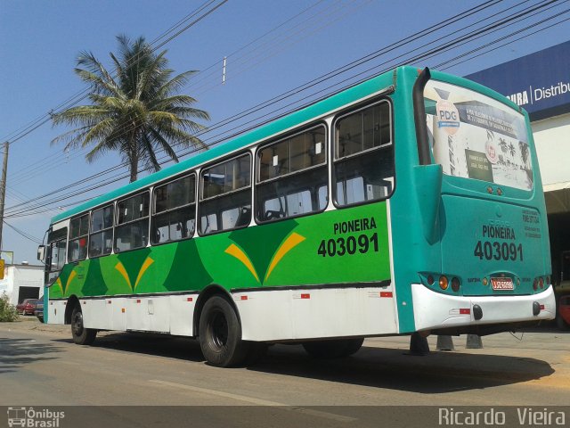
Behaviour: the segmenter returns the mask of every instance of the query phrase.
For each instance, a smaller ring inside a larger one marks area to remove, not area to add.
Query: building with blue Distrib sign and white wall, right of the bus
[[[466,76],[528,111],[549,217],[553,282],[570,280],[570,41]]]

